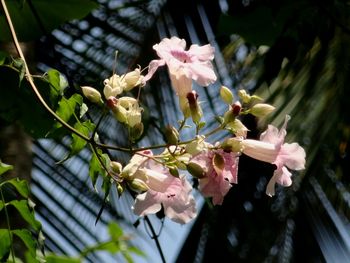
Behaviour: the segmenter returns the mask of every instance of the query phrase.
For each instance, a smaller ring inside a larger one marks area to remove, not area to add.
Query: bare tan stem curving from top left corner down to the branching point
[[[23,52],[22,52],[22,48],[18,42],[18,39],[17,39],[17,35],[16,35],[16,31],[15,31],[15,28],[12,24],[12,20],[11,20],[11,16],[8,12],[8,9],[7,9],[7,6],[6,6],[6,3],[5,3],[5,0],[1,0],[1,6],[2,8],[4,9],[4,13],[5,13],[5,17],[6,17],[6,21],[7,21],[7,24],[10,28],[10,32],[11,32],[11,36],[12,36],[12,40],[13,40],[13,43],[15,44],[15,47],[16,47],[16,50],[18,52],[18,55],[20,56],[20,58],[23,60],[23,64],[24,64],[24,68],[25,68],[25,71],[26,71],[26,74],[25,74],[25,77],[27,79],[27,81],[29,82],[32,90],[34,91],[36,97],[39,99],[40,103],[44,106],[44,108],[52,115],[55,117],[55,119],[61,123],[64,127],[66,127],[68,130],[70,130],[71,132],[75,133],[77,136],[79,136],[80,138],[86,140],[86,141],[89,141],[90,138],[88,138],[87,136],[85,136],[84,134],[80,133],[79,131],[77,131],[76,129],[74,129],[72,126],[70,126],[68,123],[66,123],[63,119],[61,119],[60,116],[58,116],[50,107],[49,105],[47,105],[47,103],[45,102],[45,100],[43,99],[43,97],[41,96],[39,90],[37,89],[34,81],[33,81],[33,77],[32,75],[30,74],[30,71],[29,71],[29,68],[28,68],[28,65],[27,65],[27,61],[23,55]]]

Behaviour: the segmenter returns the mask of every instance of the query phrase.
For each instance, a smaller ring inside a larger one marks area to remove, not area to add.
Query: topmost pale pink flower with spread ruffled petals
[[[158,67],[166,64],[174,89],[179,96],[186,96],[191,91],[191,79],[201,86],[213,83],[216,80],[211,63],[214,58],[214,48],[209,44],[191,45],[187,51],[185,48],[186,41],[178,37],[164,38],[159,44],[154,45],[153,49],[156,50],[160,59],[150,62],[144,81],[149,80]]]

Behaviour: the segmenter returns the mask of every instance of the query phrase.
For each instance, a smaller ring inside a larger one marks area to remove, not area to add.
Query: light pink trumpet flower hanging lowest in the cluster
[[[150,153],[147,151],[148,155]],[[143,180],[148,187],[146,192],[138,194],[135,199],[132,207],[135,214],[155,214],[163,207],[165,215],[180,224],[196,217],[196,203],[191,195],[192,186],[184,175],[174,177],[161,164],[148,159],[140,164],[132,176]]]

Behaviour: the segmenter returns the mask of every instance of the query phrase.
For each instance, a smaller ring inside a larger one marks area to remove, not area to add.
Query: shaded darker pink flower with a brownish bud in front
[[[204,170],[199,178],[199,190],[205,197],[212,197],[214,205],[221,205],[232,184],[237,183],[238,154],[211,150],[198,154],[193,162]]]

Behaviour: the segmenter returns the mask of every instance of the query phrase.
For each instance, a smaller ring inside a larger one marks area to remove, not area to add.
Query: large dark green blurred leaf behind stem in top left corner
[[[91,0],[7,1],[6,4],[20,41],[38,39],[66,21],[83,18],[99,6]],[[0,42],[10,42],[5,16],[3,12],[0,14]]]

